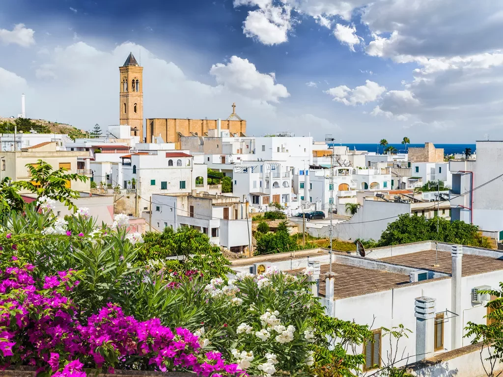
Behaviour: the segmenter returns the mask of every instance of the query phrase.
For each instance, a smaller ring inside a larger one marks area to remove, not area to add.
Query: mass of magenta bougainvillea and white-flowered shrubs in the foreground
[[[128,225],[125,215],[98,225],[85,208],[57,218],[43,198],[0,214],[2,366],[310,375],[336,358],[359,369],[347,350],[368,329],[324,316],[307,275],[214,278],[197,257],[185,269],[138,263],[142,236]]]

